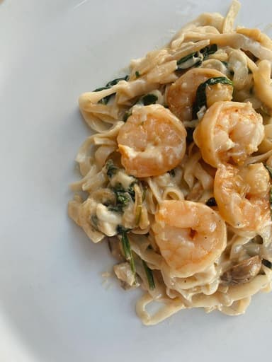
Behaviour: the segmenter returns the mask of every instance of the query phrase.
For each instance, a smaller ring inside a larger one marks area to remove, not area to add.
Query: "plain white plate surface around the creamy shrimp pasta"
[[[270,0],[239,23],[266,28]],[[219,0],[4,0],[0,5],[0,361],[255,361],[271,358],[271,295],[246,315],[186,310],[156,327],[115,281],[106,245],[67,217],[89,129],[77,98]],[[269,30],[266,28],[266,30]]]

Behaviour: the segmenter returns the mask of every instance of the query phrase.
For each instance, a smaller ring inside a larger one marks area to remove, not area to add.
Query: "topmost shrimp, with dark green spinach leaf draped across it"
[[[167,92],[166,102],[171,112],[179,117],[181,121],[191,121],[193,103],[196,100],[196,91],[198,86],[210,78],[222,76],[225,74],[215,69],[193,68],[186,71],[175,83],[173,83]],[[217,83],[214,86],[206,88],[207,105],[210,107],[217,100],[232,100],[232,86],[228,84]]]

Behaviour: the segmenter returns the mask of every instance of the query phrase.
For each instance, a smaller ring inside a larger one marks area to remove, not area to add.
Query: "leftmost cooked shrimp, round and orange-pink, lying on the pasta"
[[[120,128],[117,141],[128,175],[159,176],[183,159],[186,129],[162,105],[136,106]]]

